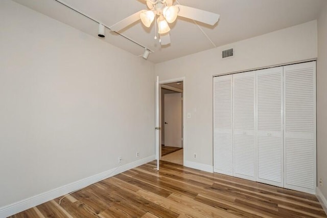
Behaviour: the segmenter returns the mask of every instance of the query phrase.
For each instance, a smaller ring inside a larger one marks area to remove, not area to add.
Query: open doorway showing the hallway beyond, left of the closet
[[[160,160],[183,165],[183,81],[160,84]]]

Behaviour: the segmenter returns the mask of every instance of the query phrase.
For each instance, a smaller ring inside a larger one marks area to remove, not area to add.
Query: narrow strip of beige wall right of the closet
[[[318,19],[317,60],[317,181],[327,199],[327,2]],[[322,184],[319,180],[322,179]]]

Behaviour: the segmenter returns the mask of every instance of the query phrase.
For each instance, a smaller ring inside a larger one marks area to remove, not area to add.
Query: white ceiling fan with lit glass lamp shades
[[[193,19],[208,25],[215,25],[220,15],[197,8],[183,5],[173,5],[173,0],[144,0],[149,10],[138,11],[118,23],[112,25],[110,30],[118,32],[141,19],[145,27],[150,27],[156,18],[161,45],[168,45],[170,41],[169,24],[174,23],[177,16]],[[178,3],[178,1],[177,1]],[[156,39],[156,36],[155,36]]]

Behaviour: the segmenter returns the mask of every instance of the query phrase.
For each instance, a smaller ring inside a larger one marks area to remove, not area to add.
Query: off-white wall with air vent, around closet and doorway
[[[235,56],[222,60],[221,52],[229,48],[235,50]],[[317,22],[314,20],[156,64],[155,72],[160,80],[185,77],[185,110],[192,113],[185,126],[186,161],[196,162],[199,168],[213,166],[213,75],[316,57]],[[193,108],[197,108],[196,113]]]

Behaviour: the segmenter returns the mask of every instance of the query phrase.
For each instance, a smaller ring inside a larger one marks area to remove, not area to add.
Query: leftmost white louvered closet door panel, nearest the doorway
[[[214,77],[214,170],[232,176],[232,75]]]

